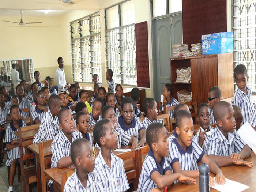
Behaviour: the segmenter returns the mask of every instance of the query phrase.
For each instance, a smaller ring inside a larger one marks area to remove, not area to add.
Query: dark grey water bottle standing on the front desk
[[[205,162],[199,166],[199,189],[200,192],[209,192],[209,171],[210,168]]]

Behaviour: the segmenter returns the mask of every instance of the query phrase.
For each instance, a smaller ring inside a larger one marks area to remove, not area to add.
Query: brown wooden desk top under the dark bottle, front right
[[[251,157],[245,159],[246,161],[251,161],[253,163],[253,167],[247,166],[239,166],[239,165],[230,165],[226,167],[221,167],[221,171],[223,175],[233,181],[240,182],[244,185],[248,185],[250,188],[245,191],[256,191],[256,155],[252,152]],[[210,172],[212,177],[215,177],[215,174]],[[196,184],[182,184],[178,182],[173,185],[168,191],[176,191],[176,192],[198,192],[199,191],[199,177],[196,178]],[[214,188],[211,188],[211,192],[218,191]]]

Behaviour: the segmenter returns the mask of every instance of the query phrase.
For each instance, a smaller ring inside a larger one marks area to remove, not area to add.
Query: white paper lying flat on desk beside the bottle
[[[214,177],[214,180],[215,180],[215,177]],[[244,191],[245,189],[248,189],[249,186],[226,178],[226,183],[224,185],[215,184],[215,186],[213,186],[212,188],[217,189],[218,191],[221,191],[221,192],[230,192],[230,191],[240,192],[240,191]]]

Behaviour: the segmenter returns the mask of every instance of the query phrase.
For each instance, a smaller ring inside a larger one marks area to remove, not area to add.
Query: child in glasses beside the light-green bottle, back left
[[[45,106],[46,93],[44,90],[39,90],[37,94],[38,105],[35,106],[35,110],[31,112],[32,119],[35,124],[40,124],[48,109]]]

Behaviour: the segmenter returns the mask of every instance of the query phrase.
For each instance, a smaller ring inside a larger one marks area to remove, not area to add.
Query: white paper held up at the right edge
[[[238,129],[238,134],[244,140],[246,144],[249,145],[249,147],[252,148],[254,153],[256,153],[256,131],[252,128],[252,126],[248,123],[245,122],[240,129]]]

